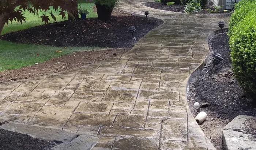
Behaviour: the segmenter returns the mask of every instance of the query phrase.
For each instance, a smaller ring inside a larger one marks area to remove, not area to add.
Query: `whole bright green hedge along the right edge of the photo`
[[[236,79],[249,94],[256,94],[256,3],[242,0],[230,17],[229,44]]]

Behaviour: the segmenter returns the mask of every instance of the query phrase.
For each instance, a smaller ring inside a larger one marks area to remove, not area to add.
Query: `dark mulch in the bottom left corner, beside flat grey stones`
[[[50,150],[57,143],[0,129],[0,150]]]

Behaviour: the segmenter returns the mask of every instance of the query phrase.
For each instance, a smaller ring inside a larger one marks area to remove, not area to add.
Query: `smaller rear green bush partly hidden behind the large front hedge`
[[[235,11],[231,14],[229,21],[230,36],[234,33],[234,26],[238,25],[248,12],[254,8],[256,8],[256,0],[241,0],[235,5]]]

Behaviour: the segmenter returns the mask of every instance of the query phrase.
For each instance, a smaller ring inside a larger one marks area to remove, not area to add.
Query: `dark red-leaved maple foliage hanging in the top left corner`
[[[17,21],[21,24],[26,22],[26,17],[23,16],[25,11],[29,11],[34,15],[38,15],[38,11],[45,11],[42,16],[42,22],[48,23],[49,16],[56,21],[56,17],[53,13],[46,14],[47,10],[50,10],[50,6],[53,7],[55,11],[60,9],[60,14],[62,18],[66,17],[65,11],[71,18],[78,18],[78,2],[77,0],[0,0],[0,35],[3,30],[4,24],[9,23],[9,21]]]

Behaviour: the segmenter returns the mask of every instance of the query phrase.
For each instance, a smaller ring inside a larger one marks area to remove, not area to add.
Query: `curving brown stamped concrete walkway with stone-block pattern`
[[[189,111],[185,87],[208,54],[207,36],[228,18],[142,1],[125,0],[120,9],[149,11],[162,25],[114,59],[0,83],[0,121],[95,135],[93,150],[215,150]]]

